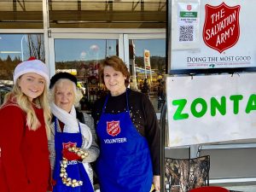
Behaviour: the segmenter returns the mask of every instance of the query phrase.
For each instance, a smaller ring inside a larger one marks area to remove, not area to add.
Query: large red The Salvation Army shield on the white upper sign
[[[225,3],[214,7],[206,4],[206,17],[203,28],[205,44],[222,53],[234,46],[240,36],[240,5],[230,7]]]

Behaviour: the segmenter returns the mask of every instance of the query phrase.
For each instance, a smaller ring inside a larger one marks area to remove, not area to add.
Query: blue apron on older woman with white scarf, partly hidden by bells
[[[79,123],[78,123],[79,125]],[[75,145],[81,148],[83,140],[81,135],[81,128],[79,125],[78,133],[67,133],[57,131],[57,121],[55,118],[55,170],[53,173],[53,179],[55,179],[56,184],[53,187],[53,192],[93,192],[93,187],[90,183],[90,178],[87,172],[84,170],[84,166],[78,160],[69,160],[68,166],[66,168],[67,176],[72,179],[82,180],[83,185],[79,187],[66,186],[62,183],[60,173],[61,173],[61,160],[62,160],[62,149],[68,148]]]

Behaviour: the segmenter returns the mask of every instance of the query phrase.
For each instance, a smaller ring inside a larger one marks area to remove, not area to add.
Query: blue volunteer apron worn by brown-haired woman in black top
[[[101,153],[96,172],[101,192],[148,192],[153,181],[148,142],[131,121],[127,92],[125,112],[105,113],[108,95],[97,124]]]

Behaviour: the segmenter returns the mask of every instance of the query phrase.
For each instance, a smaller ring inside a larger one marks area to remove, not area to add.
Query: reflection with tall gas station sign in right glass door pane
[[[148,95],[156,111],[165,102],[166,40],[129,41],[131,88]]]

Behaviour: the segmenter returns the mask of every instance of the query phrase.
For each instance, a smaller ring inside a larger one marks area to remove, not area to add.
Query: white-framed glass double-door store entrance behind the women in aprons
[[[93,103],[106,94],[98,77],[99,63],[110,55],[119,55],[130,70],[131,89],[142,91],[159,111],[166,73],[165,34],[89,34],[55,33],[49,39],[51,75],[72,73],[84,94],[82,110],[90,113]]]

